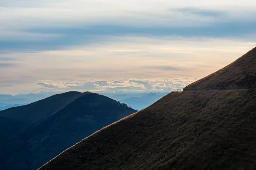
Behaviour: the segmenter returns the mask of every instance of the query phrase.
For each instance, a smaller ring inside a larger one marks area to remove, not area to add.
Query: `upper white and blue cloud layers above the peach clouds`
[[[256,37],[253,0],[0,2],[1,51],[59,50],[106,36]]]

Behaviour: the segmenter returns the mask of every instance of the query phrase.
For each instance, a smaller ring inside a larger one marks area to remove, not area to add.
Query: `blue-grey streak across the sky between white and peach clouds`
[[[186,21],[184,21],[186,23]],[[72,48],[77,45],[99,44],[105,45],[106,41],[115,40],[115,37],[208,37],[208,38],[234,38],[253,41],[256,38],[255,20],[220,20],[212,25],[199,27],[134,27],[133,25],[96,25],[96,26],[77,26],[73,28],[33,28],[27,30],[29,34],[39,35],[29,38],[25,33],[22,35],[0,36],[0,50],[4,51],[42,51],[59,50]],[[5,31],[1,31],[5,32]],[[50,36],[51,35],[51,36]],[[119,49],[110,52],[116,53],[140,53],[140,50],[128,51]]]

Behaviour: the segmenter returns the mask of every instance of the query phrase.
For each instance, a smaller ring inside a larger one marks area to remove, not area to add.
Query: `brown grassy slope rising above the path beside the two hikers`
[[[256,88],[256,48],[219,71],[200,79],[183,91]]]

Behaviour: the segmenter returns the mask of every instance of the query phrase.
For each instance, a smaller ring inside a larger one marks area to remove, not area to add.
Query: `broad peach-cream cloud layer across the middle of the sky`
[[[0,63],[8,63],[5,67],[1,65],[0,72],[6,73],[0,74],[0,80],[4,81],[1,84],[12,84],[15,80],[20,85],[40,79],[90,82],[204,77],[241,57],[256,44],[237,38],[178,36],[106,36],[102,39],[105,39],[104,45],[93,43],[64,50],[0,54],[0,58],[6,60]],[[127,52],[115,52],[121,50]],[[55,88],[55,85],[48,87]]]

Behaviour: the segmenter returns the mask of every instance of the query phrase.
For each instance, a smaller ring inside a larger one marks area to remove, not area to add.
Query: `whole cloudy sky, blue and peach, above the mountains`
[[[254,0],[0,0],[0,94],[183,88],[256,46]]]

